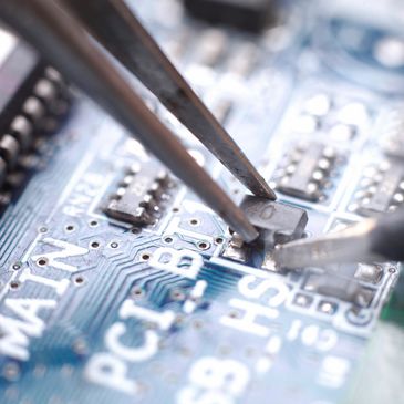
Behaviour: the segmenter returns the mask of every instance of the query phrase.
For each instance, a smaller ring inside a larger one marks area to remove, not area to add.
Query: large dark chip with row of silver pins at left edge
[[[35,168],[32,156],[70,107],[61,75],[15,37],[0,30],[0,210]]]

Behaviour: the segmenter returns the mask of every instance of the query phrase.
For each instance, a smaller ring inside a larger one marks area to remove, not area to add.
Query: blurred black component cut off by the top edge
[[[214,24],[258,32],[274,21],[273,0],[185,0],[189,13]]]

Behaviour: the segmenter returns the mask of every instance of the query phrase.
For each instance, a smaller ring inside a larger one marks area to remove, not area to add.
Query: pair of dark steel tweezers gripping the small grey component
[[[147,108],[110,58],[136,75],[255,195],[276,199],[124,0],[0,0],[0,20],[136,136],[232,230],[246,241],[257,238],[240,208]]]

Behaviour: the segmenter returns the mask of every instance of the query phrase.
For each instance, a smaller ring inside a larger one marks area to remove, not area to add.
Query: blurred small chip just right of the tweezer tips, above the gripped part
[[[311,201],[323,200],[339,160],[340,156],[331,146],[299,143],[283,157],[273,174],[273,185],[287,195]]]

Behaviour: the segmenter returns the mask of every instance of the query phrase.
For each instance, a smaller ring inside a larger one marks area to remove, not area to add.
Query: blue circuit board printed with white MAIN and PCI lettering
[[[369,216],[374,194],[392,194],[385,210],[402,203],[404,137],[403,156],[389,148],[404,100],[395,7],[291,2],[255,35],[196,22],[179,1],[130,3],[279,200],[308,211],[307,236]],[[242,186],[133,85],[239,203]],[[327,160],[313,193],[291,190],[312,164],[296,168],[294,147]],[[159,163],[80,94],[43,148],[0,219],[1,403],[350,402],[397,263],[277,271],[263,251],[234,248],[170,174],[153,224],[111,217],[128,168]],[[391,167],[396,189],[380,190],[372,178],[389,183]],[[352,279],[364,303],[322,288]]]

